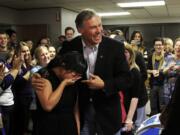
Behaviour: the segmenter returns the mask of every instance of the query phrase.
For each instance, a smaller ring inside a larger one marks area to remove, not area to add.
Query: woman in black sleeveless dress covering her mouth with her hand
[[[38,72],[40,75],[34,75],[32,84],[38,97],[36,135],[79,134],[76,81],[86,67],[83,56],[69,52],[56,56]]]

